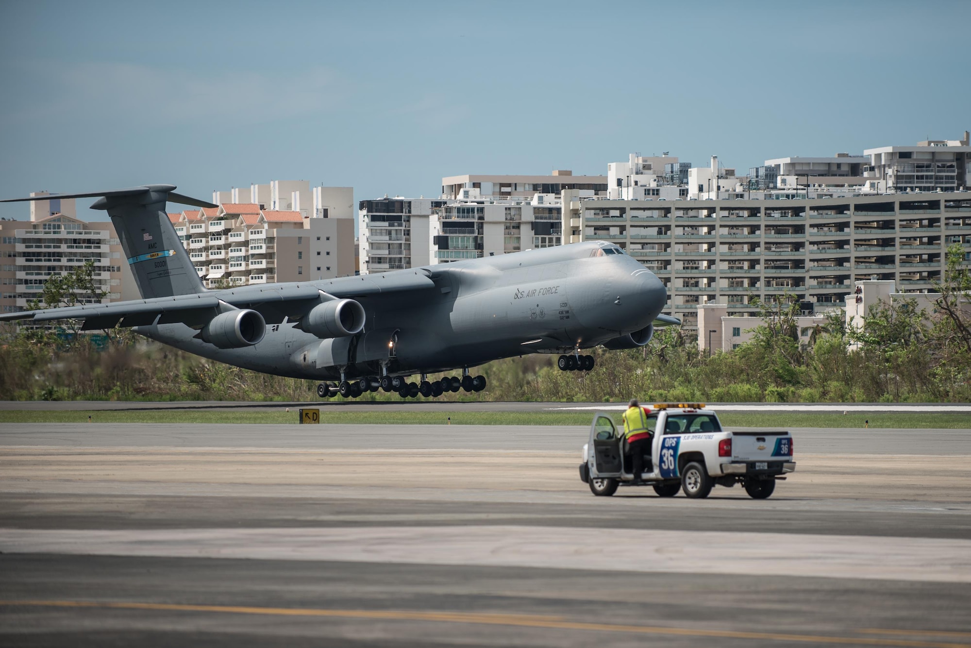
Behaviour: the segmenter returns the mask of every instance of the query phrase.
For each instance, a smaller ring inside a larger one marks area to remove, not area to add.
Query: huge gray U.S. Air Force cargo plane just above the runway
[[[84,330],[140,335],[256,372],[320,380],[318,395],[396,391],[403,398],[481,391],[470,368],[498,358],[559,353],[564,371],[589,371],[580,352],[647,344],[667,293],[617,245],[573,243],[378,275],[207,290],[166,202],[216,207],[171,184],[2,202],[97,197],[141,300],[0,314],[0,321],[82,319]],[[462,371],[429,381],[427,374]],[[406,382],[420,376],[418,383]]]

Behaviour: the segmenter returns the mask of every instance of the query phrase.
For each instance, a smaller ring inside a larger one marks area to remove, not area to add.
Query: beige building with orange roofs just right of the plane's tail
[[[207,287],[354,274],[352,218],[229,203],[169,219]]]

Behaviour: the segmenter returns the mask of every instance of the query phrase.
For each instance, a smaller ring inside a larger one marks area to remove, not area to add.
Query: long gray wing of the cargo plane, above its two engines
[[[29,319],[48,322],[56,319],[84,319],[83,330],[120,326],[149,326],[152,323],[182,322],[202,325],[226,306],[256,310],[268,324],[279,324],[285,317],[299,319],[320,303],[324,295],[341,298],[370,297],[389,293],[434,288],[427,271],[395,271],[382,275],[345,276],[313,283],[248,285],[206,293],[130,300],[113,304],[23,310],[0,314],[0,321]],[[157,319],[157,321],[156,321]]]

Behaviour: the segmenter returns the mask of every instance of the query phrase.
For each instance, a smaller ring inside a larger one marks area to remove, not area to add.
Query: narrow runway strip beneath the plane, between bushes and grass
[[[723,411],[807,411],[807,412],[940,412],[968,413],[971,404],[963,403],[711,403]],[[621,403],[513,403],[455,401],[379,401],[364,403],[340,398],[291,403],[265,401],[175,401],[152,403],[141,401],[0,401],[0,410],[85,411],[121,409],[254,409],[278,410],[284,407],[320,407],[340,411],[551,411],[551,410],[619,410]],[[971,427],[971,426],[969,426]]]

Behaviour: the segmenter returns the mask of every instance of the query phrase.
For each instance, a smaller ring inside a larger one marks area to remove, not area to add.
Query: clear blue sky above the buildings
[[[971,129],[958,0],[8,1],[0,18],[2,197],[295,178],[427,197],[443,176],[606,174],[633,151],[744,171]]]

